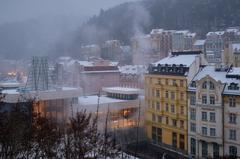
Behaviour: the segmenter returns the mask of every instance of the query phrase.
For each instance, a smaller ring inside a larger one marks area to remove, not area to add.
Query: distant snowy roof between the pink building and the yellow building
[[[147,67],[145,65],[125,65],[120,66],[119,70],[123,74],[144,74],[147,73]]]

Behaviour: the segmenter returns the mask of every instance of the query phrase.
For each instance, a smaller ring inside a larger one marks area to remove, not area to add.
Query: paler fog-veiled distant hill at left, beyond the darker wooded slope
[[[69,16],[38,17],[0,25],[0,58],[19,59],[55,54],[57,44],[71,41],[83,19]]]

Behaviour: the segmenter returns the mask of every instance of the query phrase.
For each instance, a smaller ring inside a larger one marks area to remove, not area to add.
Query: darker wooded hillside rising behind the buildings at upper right
[[[208,31],[240,25],[239,0],[144,0],[101,11],[79,30],[84,43],[119,39],[128,43],[152,28],[190,29],[204,36]]]

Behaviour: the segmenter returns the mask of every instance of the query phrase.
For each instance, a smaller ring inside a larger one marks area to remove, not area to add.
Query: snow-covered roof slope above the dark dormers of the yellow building
[[[197,55],[176,55],[176,56],[168,56],[156,63],[153,63],[155,66],[157,66],[158,64],[168,64],[168,65],[184,65],[189,67],[196,59]]]

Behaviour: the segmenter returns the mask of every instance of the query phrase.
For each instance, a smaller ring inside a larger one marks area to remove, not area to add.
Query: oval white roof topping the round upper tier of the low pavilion
[[[127,87],[103,87],[103,91],[108,93],[119,93],[119,94],[140,94],[140,89],[127,88]]]

